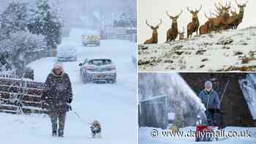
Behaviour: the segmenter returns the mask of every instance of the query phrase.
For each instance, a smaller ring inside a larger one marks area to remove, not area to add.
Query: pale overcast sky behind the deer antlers
[[[202,24],[206,22],[204,12],[209,13],[210,10],[215,9],[214,1],[217,0],[138,0],[138,42],[143,43],[146,39],[151,37],[152,31],[148,26],[146,26],[146,19],[148,20],[148,23],[155,25],[159,23],[159,18],[162,18],[162,25],[158,30],[158,35],[159,42],[165,42],[166,31],[167,29],[170,29],[171,26],[171,20],[165,14],[166,10],[168,10],[170,15],[178,15],[178,13],[183,10],[183,13],[178,19],[178,29],[182,30],[183,26],[185,29],[187,29],[187,23],[189,23],[192,19],[192,15],[187,11],[187,6],[189,6],[191,9],[198,9],[200,4],[203,5],[202,10],[198,14],[200,24]],[[225,4],[225,0],[218,1]],[[243,3],[246,0],[237,1]],[[233,7],[237,7],[235,0],[230,0],[230,2]],[[238,26],[238,29],[242,29],[247,26],[256,26],[255,9],[256,1],[249,0],[246,5],[244,20]]]

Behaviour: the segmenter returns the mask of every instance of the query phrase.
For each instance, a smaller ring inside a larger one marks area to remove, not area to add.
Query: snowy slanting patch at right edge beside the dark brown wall
[[[248,74],[246,79],[239,80],[239,84],[252,114],[252,118],[256,121],[256,74]]]

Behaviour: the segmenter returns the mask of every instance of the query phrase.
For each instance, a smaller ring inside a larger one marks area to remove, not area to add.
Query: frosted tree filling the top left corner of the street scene
[[[26,31],[28,25],[26,10],[26,3],[12,1],[0,15],[1,34],[8,37],[10,33]]]

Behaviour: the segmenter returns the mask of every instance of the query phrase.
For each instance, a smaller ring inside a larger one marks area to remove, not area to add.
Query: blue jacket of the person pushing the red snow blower
[[[205,89],[200,92],[199,98],[203,102],[203,104],[206,107],[206,110],[208,109],[219,109],[219,96],[214,89],[211,89],[209,93],[206,92]]]

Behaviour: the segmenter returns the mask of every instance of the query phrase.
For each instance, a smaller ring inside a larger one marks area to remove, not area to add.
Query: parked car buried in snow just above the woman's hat
[[[75,48],[58,48],[57,61],[77,61]]]

